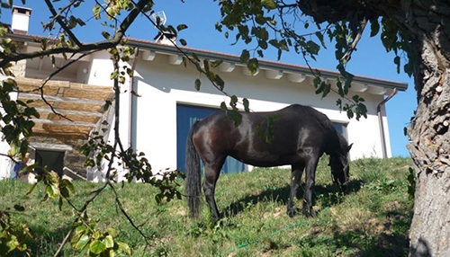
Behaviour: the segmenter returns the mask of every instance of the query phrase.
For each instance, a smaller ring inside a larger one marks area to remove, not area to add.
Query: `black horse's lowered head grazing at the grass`
[[[329,166],[331,167],[331,175],[333,176],[333,182],[338,183],[345,189],[347,182],[350,178],[349,175],[349,164],[348,164],[348,152],[350,151],[350,146],[347,146],[345,154],[330,155],[329,156]]]

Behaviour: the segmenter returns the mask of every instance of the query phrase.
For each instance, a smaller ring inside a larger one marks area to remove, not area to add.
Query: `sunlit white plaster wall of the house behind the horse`
[[[383,101],[382,95],[360,93],[365,98],[367,119],[359,121],[347,118],[347,113],[338,111],[336,94],[330,93],[321,99],[314,93],[310,79],[302,83],[292,83],[284,77],[268,79],[261,72],[257,75],[243,75],[242,68],[234,71],[218,72],[226,82],[229,94],[239,98],[247,97],[252,111],[275,111],[291,103],[311,105],[325,113],[330,120],[347,124],[347,138],[354,143],[351,159],[377,156],[382,157],[382,144],[376,106]],[[219,108],[220,102],[229,102],[211,83],[200,76],[200,92],[194,90],[194,80],[199,73],[191,66],[171,65],[168,57],[157,55],[152,61],[138,60],[134,86],[140,95],[135,99],[136,117],[133,121],[134,147],[146,153],[154,170],[176,167],[176,104]],[[385,113],[383,111],[383,113]],[[387,119],[383,114],[388,156],[391,155]]]

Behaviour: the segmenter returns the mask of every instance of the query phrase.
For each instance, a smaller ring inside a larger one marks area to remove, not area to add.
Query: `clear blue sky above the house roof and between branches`
[[[14,2],[17,2],[16,4],[20,3],[20,1]],[[85,2],[91,3],[91,1]],[[181,0],[156,0],[155,2],[154,9],[156,12],[165,11],[167,24],[177,25],[184,23],[188,26],[188,29],[181,31],[179,35],[179,38],[187,41],[188,47],[236,55],[239,55],[242,49],[245,48],[243,44],[232,46],[233,40],[226,40],[222,33],[215,31],[214,24],[220,20],[220,8],[217,2],[211,0],[184,0],[184,3]],[[87,7],[88,4],[85,5]],[[49,17],[46,5],[41,1],[28,0],[25,6],[32,9],[30,33],[47,36],[48,34],[42,32],[40,25],[41,21],[46,21]],[[81,18],[90,18],[92,16],[91,8],[92,6],[84,8]],[[7,11],[2,12],[0,19],[2,22],[10,22],[11,15]],[[90,20],[88,25],[93,22],[95,21]],[[82,34],[82,40],[100,39],[98,31],[89,30],[86,27],[83,30],[79,31]],[[153,25],[145,17],[140,16],[130,28],[130,31],[128,31],[127,36],[141,40],[153,40],[156,33],[157,31]],[[328,43],[328,41],[326,42]],[[333,44],[328,43],[327,45],[328,49],[321,49],[320,57],[317,58],[317,61],[312,61],[311,66],[336,70],[337,61],[334,58]],[[406,92],[397,93],[386,104],[392,155],[409,156],[409,152],[406,149],[408,139],[403,134],[403,128],[408,126],[410,118],[413,116],[413,111],[416,110],[417,97],[413,79],[404,73],[397,74],[396,66],[392,61],[393,57],[393,53],[386,53],[386,50],[383,49],[379,35],[370,38],[368,33],[365,33],[347,65],[347,70],[354,75],[364,75],[409,84],[409,89]],[[268,49],[265,52],[265,58],[276,60],[276,50]],[[295,65],[305,65],[303,58],[294,52],[284,52],[280,61]],[[333,97],[333,95],[328,97]]]

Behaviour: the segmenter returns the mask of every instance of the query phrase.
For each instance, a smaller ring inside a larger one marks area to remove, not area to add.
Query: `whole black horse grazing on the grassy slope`
[[[302,213],[314,217],[312,188],[320,156],[323,153],[330,156],[334,182],[344,185],[348,182],[350,148],[328,117],[309,106],[293,104],[280,111],[242,113],[238,126],[225,111],[218,111],[193,124],[187,138],[185,193],[191,215],[198,216],[202,193],[199,156],[204,164],[203,191],[215,221],[219,219],[219,211],[214,191],[228,155],[255,166],[292,165],[289,217],[295,215],[293,198],[306,169]]]

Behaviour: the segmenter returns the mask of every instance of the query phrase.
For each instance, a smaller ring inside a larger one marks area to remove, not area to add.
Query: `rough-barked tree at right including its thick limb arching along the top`
[[[408,128],[417,174],[410,256],[450,256],[450,1],[302,0],[316,22],[387,17],[412,46],[418,110]],[[342,12],[342,6],[347,12]],[[336,14],[340,13],[340,15]]]

